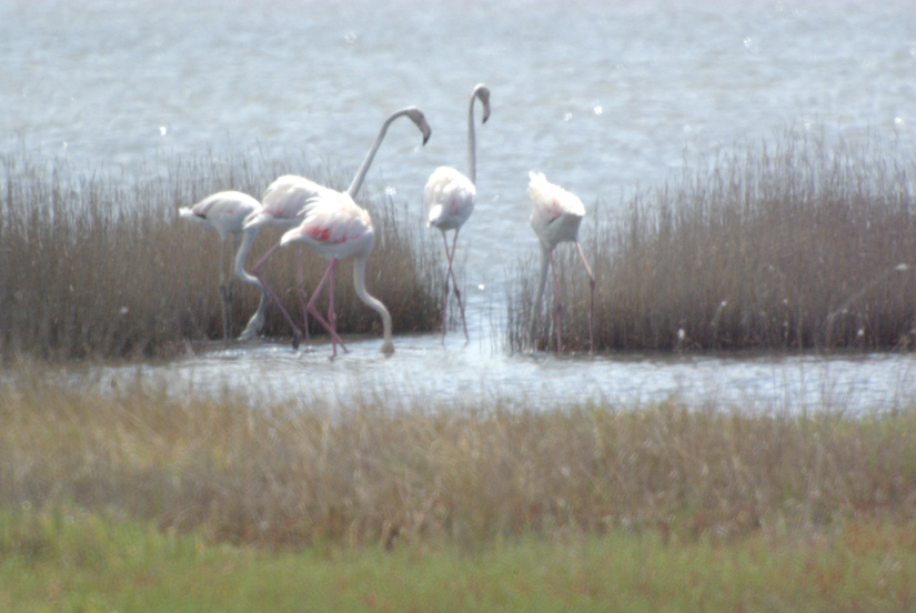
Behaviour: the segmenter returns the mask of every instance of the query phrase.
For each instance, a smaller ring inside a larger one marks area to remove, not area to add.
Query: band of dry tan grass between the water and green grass
[[[77,505],[214,542],[474,549],[514,535],[816,535],[916,513],[916,411],[529,410],[366,393],[252,406],[19,368],[0,386],[0,501]]]

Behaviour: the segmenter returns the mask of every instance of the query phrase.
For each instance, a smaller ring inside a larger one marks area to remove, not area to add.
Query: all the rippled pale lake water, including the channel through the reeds
[[[392,125],[369,181],[415,203],[417,224],[430,172],[466,170],[471,89],[492,90],[460,243],[469,346],[459,334],[445,349],[435,334],[402,336],[385,360],[378,339],[353,340],[331,362],[265,341],[144,372],[272,396],[390,386],[421,399],[854,409],[916,398],[909,355],[530,358],[507,354],[499,330],[507,270],[536,252],[529,170],[590,214],[613,214],[637,187],[787,128],[912,154],[910,2],[0,0],[0,153],[90,172],[255,151],[355,169],[381,120],[416,104],[429,144],[409,122]],[[122,371],[133,366],[104,376]]]

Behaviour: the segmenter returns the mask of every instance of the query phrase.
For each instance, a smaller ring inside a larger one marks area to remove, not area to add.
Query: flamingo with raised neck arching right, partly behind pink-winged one
[[[375,158],[375,153],[379,151],[379,148],[382,144],[382,141],[385,138],[385,133],[387,132],[389,125],[400,118],[400,117],[407,117],[411,121],[413,121],[420,131],[423,133],[423,144],[426,144],[426,141],[430,140],[430,124],[426,122],[426,118],[423,114],[423,111],[417,109],[416,107],[406,107],[399,111],[393,112],[390,114],[385,121],[382,123],[382,128],[379,130],[379,134],[375,137],[375,142],[372,143],[369,152],[365,154],[365,158],[360,165],[360,169],[356,171],[356,174],[353,177],[353,181],[350,183],[350,187],[344,192],[350,199],[354,199],[356,193],[359,193],[360,188],[365,180],[365,175],[369,172],[370,165],[372,165],[372,160]],[[294,174],[284,174],[283,177],[278,178],[276,180],[271,183],[266,191],[264,192],[264,197],[261,200],[261,207],[249,214],[245,219],[244,228],[259,228],[264,224],[270,225],[279,225],[283,228],[294,228],[300,225],[303,221],[303,218],[306,215],[310,202],[316,198],[331,198],[334,194],[340,194],[336,190],[331,188],[326,188],[310,179],[305,179],[304,177],[298,177]],[[283,308],[280,302],[280,299],[270,289],[270,287],[264,282],[263,277],[261,277],[260,270],[261,267],[264,265],[264,262],[273,255],[273,253],[280,249],[281,242],[274,244],[268,252],[254,264],[251,272],[252,274],[264,285],[268,293],[271,298],[276,302],[280,306],[280,311],[283,313],[283,316],[290,323],[290,326],[293,329],[293,348],[299,346],[299,341],[302,338],[302,331],[300,331],[299,326],[293,323],[292,318]],[[303,306],[303,318],[304,318],[304,330],[305,330],[305,338],[309,339],[309,310],[305,303],[305,292],[302,290],[303,285],[303,278],[302,278],[302,245],[299,245],[299,253],[298,258],[298,267],[296,267],[296,282],[298,282],[298,292],[300,301],[302,302]],[[339,339],[338,339],[339,340]],[[343,343],[341,343],[343,345]]]

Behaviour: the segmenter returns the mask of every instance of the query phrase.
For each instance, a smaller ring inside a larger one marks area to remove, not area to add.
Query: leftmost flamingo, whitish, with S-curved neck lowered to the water
[[[246,341],[253,339],[264,328],[264,311],[266,310],[269,300],[266,290],[258,279],[244,270],[245,254],[249,249],[251,249],[251,243],[254,242],[258,228],[250,230],[242,229],[244,219],[260,207],[261,203],[246,193],[223,191],[208,195],[193,207],[182,207],[178,211],[182,218],[208,225],[220,234],[223,249],[220,258],[219,279],[223,311],[223,338],[225,340],[229,340],[230,328],[232,325],[232,278],[228,272],[223,271],[223,264],[227,259],[225,251],[229,245],[228,239],[230,237],[232,238],[232,248],[235,251],[235,277],[261,290],[261,301],[258,304],[258,311],[255,311],[254,315],[249,320],[239,340]],[[239,237],[242,238],[241,245],[239,244]]]

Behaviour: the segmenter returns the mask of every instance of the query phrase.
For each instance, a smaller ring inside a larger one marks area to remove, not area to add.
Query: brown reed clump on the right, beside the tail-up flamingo
[[[743,149],[586,218],[596,348],[913,349],[912,155],[792,131]],[[587,280],[572,249],[557,255],[564,343],[587,349]],[[509,290],[513,350],[525,344],[535,271],[519,263]],[[540,306],[540,348],[552,300]]]

